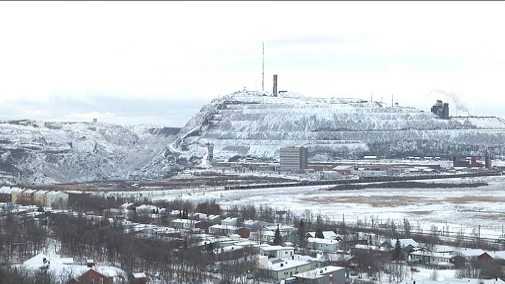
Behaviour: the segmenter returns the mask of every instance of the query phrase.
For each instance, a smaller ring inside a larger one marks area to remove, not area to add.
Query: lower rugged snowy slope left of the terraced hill
[[[0,122],[0,183],[84,182],[130,179],[164,152],[177,128]]]

